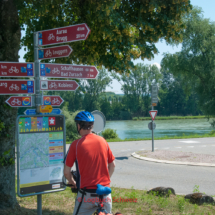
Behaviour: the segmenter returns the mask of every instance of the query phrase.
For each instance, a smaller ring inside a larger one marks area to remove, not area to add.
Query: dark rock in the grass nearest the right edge
[[[192,193],[188,194],[184,197],[185,199],[189,199],[189,201],[193,204],[215,204],[212,196],[208,196],[204,193]]]

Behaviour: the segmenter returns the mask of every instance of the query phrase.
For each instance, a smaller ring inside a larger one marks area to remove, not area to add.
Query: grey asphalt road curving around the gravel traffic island
[[[200,192],[215,195],[214,167],[153,163],[131,157],[133,152],[151,150],[151,140],[109,145],[116,157],[112,186],[144,190],[165,186],[174,188],[178,194],[189,194],[198,185]],[[215,138],[155,140],[156,149],[215,155]]]

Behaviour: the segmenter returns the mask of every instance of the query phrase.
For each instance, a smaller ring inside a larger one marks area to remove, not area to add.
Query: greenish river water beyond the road
[[[148,129],[150,121],[107,121],[106,128],[116,130],[119,138],[150,138],[151,130]],[[205,134],[209,133],[213,128],[207,119],[177,119],[177,120],[156,120],[156,129],[154,137],[163,136],[183,136],[190,134]]]

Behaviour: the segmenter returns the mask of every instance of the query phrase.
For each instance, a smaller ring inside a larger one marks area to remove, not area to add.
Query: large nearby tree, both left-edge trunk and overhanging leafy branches
[[[91,34],[86,41],[72,43],[70,58],[51,62],[104,65],[117,72],[128,71],[132,59],[151,58],[159,38],[180,40],[182,15],[191,8],[189,0],[1,0],[0,61],[18,61],[20,27],[26,27],[21,45],[27,46],[27,62],[33,61],[33,32],[87,23]],[[1,96],[0,157],[14,159],[16,109],[5,107]],[[11,135],[8,137],[8,135]],[[5,153],[11,149],[8,157]],[[5,155],[6,156],[6,155]],[[1,206],[14,207],[14,165],[1,163]],[[6,180],[7,179],[7,180]]]

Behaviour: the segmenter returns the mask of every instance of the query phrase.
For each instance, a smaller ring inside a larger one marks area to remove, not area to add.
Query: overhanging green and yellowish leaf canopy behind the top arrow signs
[[[33,32],[87,23],[91,29],[88,39],[71,43],[70,57],[55,62],[128,71],[134,66],[132,59],[153,58],[160,38],[167,42],[181,39],[185,27],[181,17],[190,8],[189,0],[28,0],[20,11],[20,19],[27,25],[25,58],[33,60]]]

